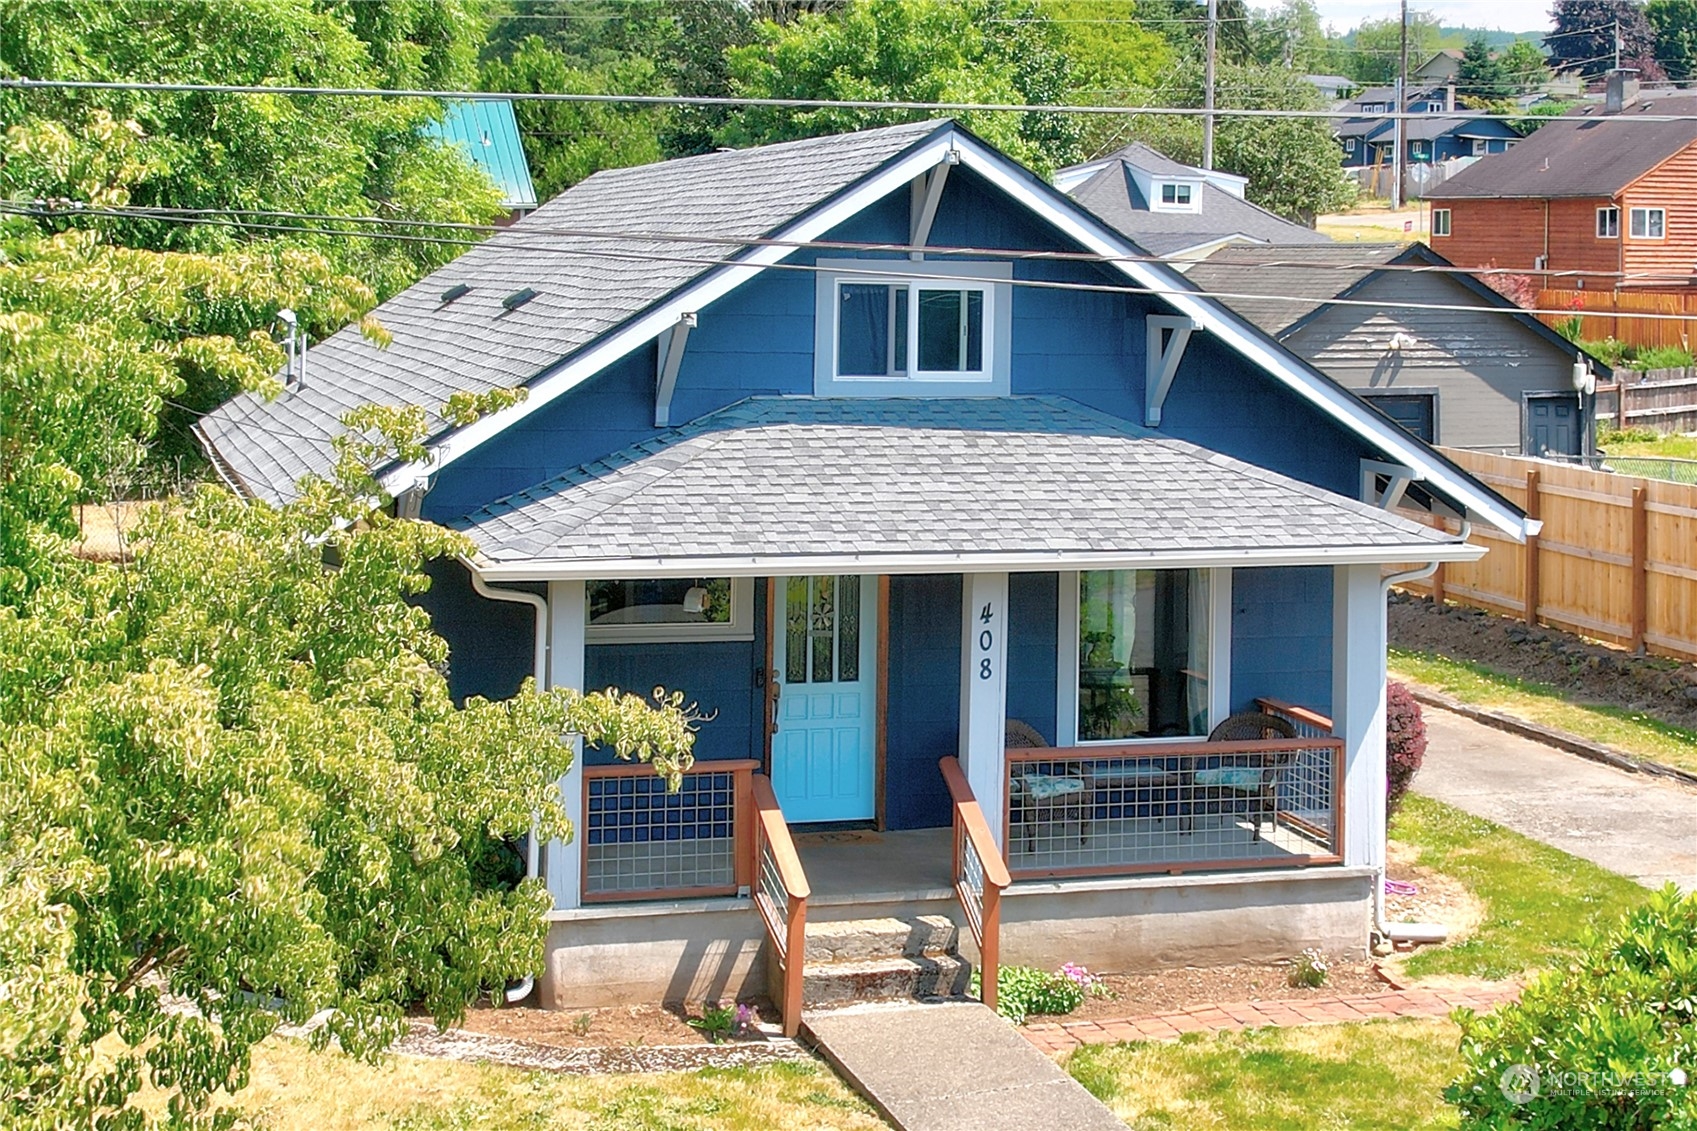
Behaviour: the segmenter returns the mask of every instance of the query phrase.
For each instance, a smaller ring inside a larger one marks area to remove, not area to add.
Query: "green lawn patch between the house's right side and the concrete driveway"
[[[1403,802],[1390,836],[1485,905],[1483,922],[1466,939],[1409,956],[1403,970],[1415,978],[1509,978],[1549,966],[1573,954],[1587,929],[1649,897],[1626,876],[1419,795]]]

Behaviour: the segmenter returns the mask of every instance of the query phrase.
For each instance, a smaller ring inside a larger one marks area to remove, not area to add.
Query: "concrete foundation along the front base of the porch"
[[[937,895],[825,897],[809,905],[809,922],[915,914],[959,922],[954,900]],[[1310,946],[1361,958],[1371,895],[1366,868],[1023,881],[1003,895],[1001,961],[1139,973],[1274,963]],[[966,931],[959,948],[977,959]],[[730,1000],[767,993],[769,976],[750,900],[601,905],[555,912],[538,1000],[550,1009]]]

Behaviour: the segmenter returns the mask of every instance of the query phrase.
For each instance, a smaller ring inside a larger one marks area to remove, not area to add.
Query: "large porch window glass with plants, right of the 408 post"
[[[1208,734],[1208,574],[1078,576],[1078,739]]]

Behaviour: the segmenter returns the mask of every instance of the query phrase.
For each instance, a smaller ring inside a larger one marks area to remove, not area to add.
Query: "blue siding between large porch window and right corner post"
[[[1232,710],[1257,696],[1332,712],[1332,571],[1232,571]]]

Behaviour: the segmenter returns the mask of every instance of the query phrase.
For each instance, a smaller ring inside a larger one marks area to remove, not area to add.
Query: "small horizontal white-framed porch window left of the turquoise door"
[[[747,577],[591,581],[584,594],[591,644],[753,639]]]

